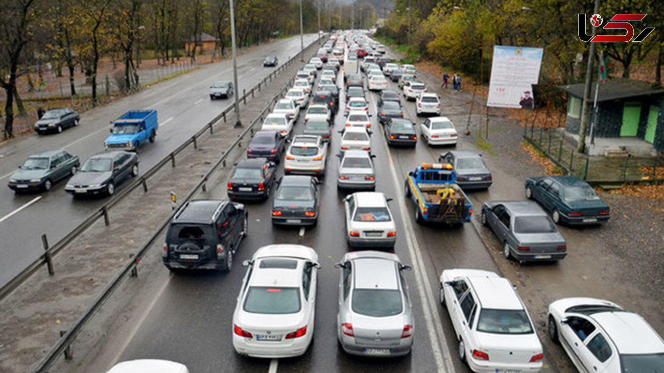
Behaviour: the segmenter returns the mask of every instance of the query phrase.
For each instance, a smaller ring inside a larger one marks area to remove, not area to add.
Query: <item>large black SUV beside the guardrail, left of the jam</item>
[[[174,269],[230,271],[233,254],[249,229],[243,204],[224,200],[191,200],[171,221],[161,253]]]

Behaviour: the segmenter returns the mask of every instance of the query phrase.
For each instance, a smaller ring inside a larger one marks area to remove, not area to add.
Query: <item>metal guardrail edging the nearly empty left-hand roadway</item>
[[[314,42],[309,44],[309,46],[307,46],[304,49],[304,52],[309,50],[309,48],[311,48],[311,46],[313,46],[318,41],[319,41],[319,39],[316,39]],[[295,61],[295,58],[299,58],[301,53],[302,52],[297,52],[297,54],[295,54],[295,56],[290,58],[290,60],[288,60],[286,63],[282,64],[281,66],[279,66],[276,70],[274,70],[268,76],[266,76],[260,82],[258,82],[258,84],[256,84],[256,86],[254,86],[251,90],[249,90],[249,92],[245,92],[240,98],[238,98],[238,103],[240,101],[242,101],[242,102],[244,102],[244,105],[246,105],[246,98],[248,98],[248,96],[253,97],[256,90],[258,90],[258,92],[260,92],[262,86],[266,86],[268,81],[272,81],[272,79],[274,79],[274,77],[278,73],[282,72],[286,67],[291,66],[291,64],[293,64],[293,62],[299,62],[299,61]],[[236,92],[236,94],[237,93],[238,92]],[[181,153],[181,151],[183,151],[184,149],[189,147],[189,145],[191,145],[191,144],[193,144],[194,148],[196,149],[197,146],[198,146],[197,145],[197,139],[199,137],[201,137],[207,131],[210,131],[210,133],[213,133],[214,125],[219,123],[221,121],[221,119],[223,119],[223,123],[226,123],[226,115],[228,115],[228,113],[232,112],[234,109],[235,109],[235,104],[234,103],[230,104],[230,106],[228,106],[228,108],[226,108],[223,112],[221,112],[219,115],[217,115],[212,120],[210,120],[203,128],[201,128],[199,131],[197,131],[197,133],[195,133],[191,138],[189,138],[187,141],[182,143],[174,151],[169,153],[169,155],[167,155],[166,157],[161,159],[161,161],[157,162],[157,164],[154,165],[151,169],[149,169],[149,171],[147,171],[147,173],[145,173],[144,175],[142,175],[141,177],[139,177],[137,179],[134,179],[131,184],[129,184],[126,187],[122,188],[119,192],[117,192],[114,196],[112,196],[112,198],[110,198],[108,200],[108,202],[106,202],[104,205],[102,205],[100,208],[98,208],[98,210],[96,210],[95,212],[92,212],[92,214],[88,215],[88,217],[85,220],[83,220],[80,224],[78,224],[78,226],[74,227],[68,234],[66,234],[63,238],[61,238],[53,246],[48,247],[47,244],[46,244],[47,240],[46,240],[45,236],[42,236],[42,242],[44,242],[44,251],[45,251],[44,255],[42,255],[37,260],[33,261],[33,263],[28,265],[25,269],[23,269],[23,271],[21,271],[18,275],[16,275],[13,279],[11,279],[8,283],[6,283],[5,285],[3,285],[3,287],[0,288],[0,300],[4,299],[7,295],[9,295],[9,293],[11,293],[11,291],[16,289],[19,285],[21,285],[21,283],[23,283],[23,281],[25,281],[27,278],[29,278],[31,275],[33,275],[33,273],[35,273],[35,271],[37,271],[37,269],[39,269],[42,265],[48,264],[48,261],[50,261],[50,258],[52,258],[56,254],[58,254],[58,252],[60,252],[60,250],[62,250],[62,248],[64,248],[67,244],[72,242],[72,240],[74,240],[74,238],[78,237],[86,229],[90,228],[90,226],[92,226],[92,224],[97,222],[97,220],[99,220],[100,218],[103,217],[104,221],[106,222],[106,225],[109,225],[110,220],[108,218],[108,210],[112,206],[118,204],[118,202],[120,202],[120,200],[122,200],[122,198],[127,196],[127,194],[129,194],[130,192],[132,192],[135,188],[137,188],[139,186],[142,186],[143,191],[147,192],[147,183],[146,183],[147,179],[149,179],[150,177],[153,177],[157,172],[159,172],[161,170],[162,167],[164,167],[168,163],[171,163],[171,166],[175,167],[175,156],[176,155]]]

